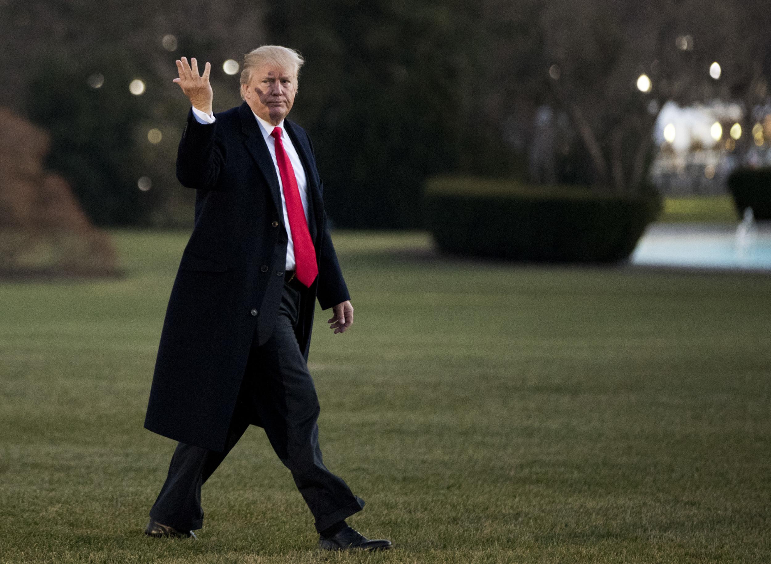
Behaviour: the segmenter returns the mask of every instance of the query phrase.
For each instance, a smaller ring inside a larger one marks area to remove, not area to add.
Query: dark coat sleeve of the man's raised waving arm
[[[187,114],[187,123],[177,149],[177,180],[182,186],[211,190],[225,164],[225,146],[217,138],[220,120],[198,123],[193,110]]]

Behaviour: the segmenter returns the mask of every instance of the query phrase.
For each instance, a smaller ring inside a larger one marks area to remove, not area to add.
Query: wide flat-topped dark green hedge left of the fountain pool
[[[627,258],[660,209],[658,195],[582,186],[439,177],[426,185],[429,230],[441,250],[479,257],[608,263]]]

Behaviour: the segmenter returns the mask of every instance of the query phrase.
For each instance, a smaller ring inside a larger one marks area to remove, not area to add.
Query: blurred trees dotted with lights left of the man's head
[[[194,193],[174,176],[188,109],[171,82],[174,59],[210,60],[215,111],[237,105],[237,75],[222,63],[264,42],[262,20],[261,2],[246,0],[7,0],[0,102],[51,131],[49,166],[96,223],[190,224]],[[140,96],[129,91],[133,79],[144,82]],[[140,178],[149,190],[140,190]]]

